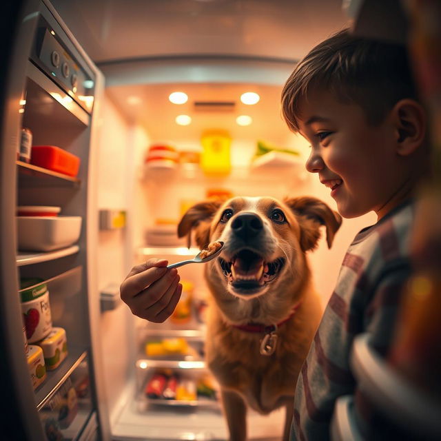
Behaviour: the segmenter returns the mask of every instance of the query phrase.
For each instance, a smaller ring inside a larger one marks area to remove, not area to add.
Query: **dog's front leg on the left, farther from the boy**
[[[229,441],[245,441],[247,439],[247,406],[238,393],[220,391],[223,411],[227,418]]]

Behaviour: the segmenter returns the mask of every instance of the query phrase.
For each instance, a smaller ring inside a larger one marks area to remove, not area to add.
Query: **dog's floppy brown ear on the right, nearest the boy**
[[[300,223],[300,245],[303,251],[316,247],[320,238],[320,225],[326,227],[326,240],[328,248],[331,248],[334,236],[342,224],[340,214],[312,196],[286,198],[284,202],[296,214]]]

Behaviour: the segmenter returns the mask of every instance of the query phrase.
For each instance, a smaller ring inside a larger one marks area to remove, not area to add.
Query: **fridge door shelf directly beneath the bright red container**
[[[50,185],[71,185],[79,187],[81,181],[79,178],[68,176],[58,172],[52,172],[47,168],[38,165],[28,164],[23,161],[15,161],[18,167],[19,180],[21,185],[31,187],[44,187]]]

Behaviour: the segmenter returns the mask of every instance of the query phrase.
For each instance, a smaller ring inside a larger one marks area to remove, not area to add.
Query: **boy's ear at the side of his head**
[[[393,107],[396,123],[396,152],[407,156],[422,145],[426,136],[426,116],[420,103],[413,99],[402,99]]]

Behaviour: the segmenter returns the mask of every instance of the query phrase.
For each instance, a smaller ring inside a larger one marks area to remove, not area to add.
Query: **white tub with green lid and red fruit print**
[[[21,280],[20,300],[29,343],[45,338],[52,329],[48,285],[39,278]]]

